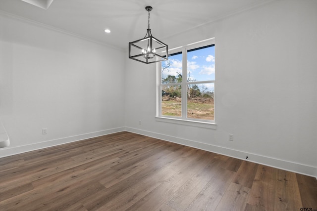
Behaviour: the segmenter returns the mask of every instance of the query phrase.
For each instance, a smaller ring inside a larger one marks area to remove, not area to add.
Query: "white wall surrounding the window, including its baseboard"
[[[127,130],[317,176],[317,1],[271,2],[161,40],[211,37],[216,129],[156,122],[156,67],[129,60]]]

